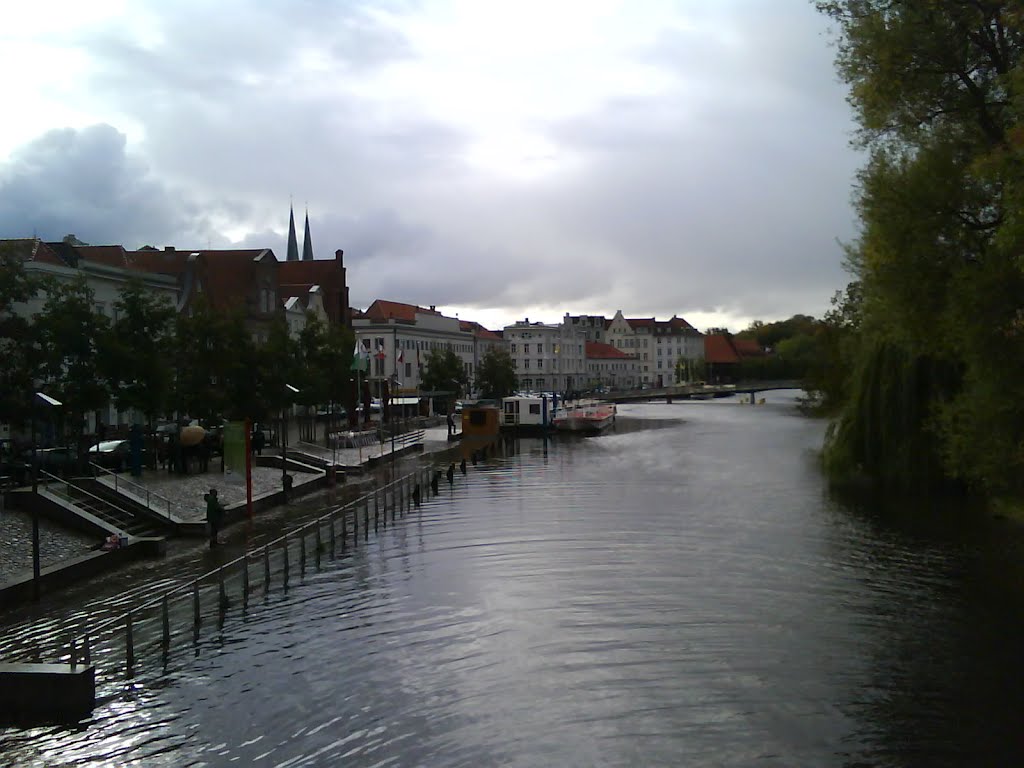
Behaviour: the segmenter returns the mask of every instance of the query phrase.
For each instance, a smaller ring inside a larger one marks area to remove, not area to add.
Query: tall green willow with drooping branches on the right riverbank
[[[838,0],[859,145],[861,339],[826,459],[1024,490],[1019,2]]]

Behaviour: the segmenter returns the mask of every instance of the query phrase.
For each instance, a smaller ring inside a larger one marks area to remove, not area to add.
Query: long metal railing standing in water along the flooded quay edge
[[[436,483],[433,468],[417,469],[127,612],[87,627],[58,650],[58,662],[72,667],[80,662],[91,664],[97,674],[104,668],[116,674],[123,665],[128,678],[135,674],[140,649],[159,650],[166,662],[176,637],[187,633],[194,644],[199,642],[200,628],[211,604],[223,623],[228,608],[241,606],[245,611],[255,594],[268,597],[274,583],[287,590],[292,574],[304,575],[310,559],[318,569],[325,555],[332,559],[336,556],[339,544],[342,553],[349,542],[357,547],[360,532],[364,541],[369,540],[371,525],[374,531],[387,528],[389,512],[393,524],[397,516],[429,499],[436,488],[431,480]],[[311,546],[307,547],[307,543]],[[292,559],[296,548],[297,563]]]

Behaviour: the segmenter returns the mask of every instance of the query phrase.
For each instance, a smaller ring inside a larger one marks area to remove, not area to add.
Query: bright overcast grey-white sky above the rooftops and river
[[[286,254],[500,327],[820,316],[861,163],[809,0],[3,3],[0,237]]]

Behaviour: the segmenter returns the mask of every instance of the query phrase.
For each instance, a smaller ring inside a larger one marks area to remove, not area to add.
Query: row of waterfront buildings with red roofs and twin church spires
[[[668,386],[700,378],[698,364],[708,361],[721,373],[738,358],[729,343],[706,340],[689,323],[673,315],[626,317],[570,315],[561,323],[524,319],[501,331],[478,323],[447,317],[416,304],[375,300],[366,311],[352,309],[344,252],[333,259],[313,257],[308,213],[301,255],[294,210],[289,210],[286,258],[271,249],[162,250],[144,247],[127,251],[120,245],[85,246],[36,239],[8,241],[30,271],[58,280],[85,278],[98,309],[115,318],[114,304],[125,283],[140,279],[154,294],[166,296],[180,312],[190,312],[200,297],[214,308],[240,310],[253,339],[265,341],[271,323],[287,322],[296,338],[307,318],[349,327],[371,355],[371,381],[385,380],[407,392],[422,383],[426,355],[434,349],[457,354],[472,381],[488,349],[509,352],[522,389],[570,391],[594,386]],[[41,301],[28,308],[38,311]],[[728,348],[727,348],[728,347]],[[699,371],[699,373],[698,373]],[[710,375],[710,374],[709,374]]]

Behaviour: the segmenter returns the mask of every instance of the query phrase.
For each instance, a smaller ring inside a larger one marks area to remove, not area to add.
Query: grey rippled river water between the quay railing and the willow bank
[[[1020,764],[1015,529],[830,498],[768,399],[523,438],[0,761]]]

